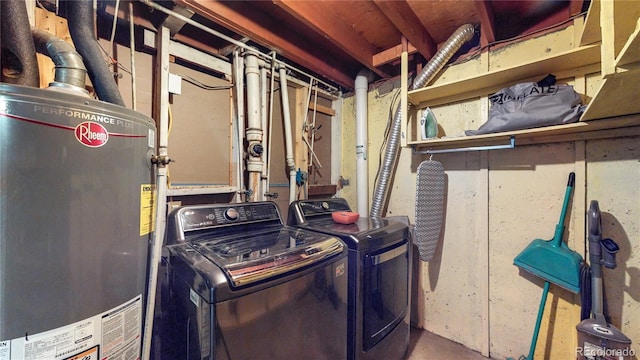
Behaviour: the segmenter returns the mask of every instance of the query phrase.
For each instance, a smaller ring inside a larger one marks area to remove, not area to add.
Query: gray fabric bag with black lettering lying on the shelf
[[[576,122],[584,111],[580,95],[570,85],[520,83],[489,96],[489,120],[466,135],[530,129]]]

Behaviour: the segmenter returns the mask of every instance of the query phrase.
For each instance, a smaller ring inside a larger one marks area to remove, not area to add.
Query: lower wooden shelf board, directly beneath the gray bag
[[[553,143],[561,141],[603,139],[640,135],[640,115],[630,115],[608,120],[579,121],[572,124],[546,126],[535,129],[505,131],[495,134],[443,138],[409,142],[416,151],[464,149],[505,145],[511,138],[515,146]]]

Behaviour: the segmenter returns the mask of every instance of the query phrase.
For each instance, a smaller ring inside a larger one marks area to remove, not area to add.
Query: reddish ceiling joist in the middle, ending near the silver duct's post
[[[273,0],[273,3],[305,23],[334,45],[358,60],[374,73],[389,77],[373,66],[373,55],[378,49],[346,23],[339,21],[329,7],[317,1]]]

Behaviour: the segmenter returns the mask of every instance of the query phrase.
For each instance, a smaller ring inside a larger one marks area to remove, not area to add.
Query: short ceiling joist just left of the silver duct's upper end
[[[373,0],[373,3],[425,59],[431,59],[435,55],[438,44],[406,1]]]

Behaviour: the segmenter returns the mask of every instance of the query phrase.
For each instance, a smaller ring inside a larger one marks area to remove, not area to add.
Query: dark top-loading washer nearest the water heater
[[[347,247],[273,202],[185,206],[167,223],[161,357],[344,359]]]

